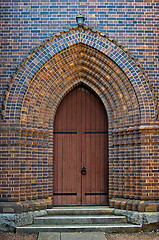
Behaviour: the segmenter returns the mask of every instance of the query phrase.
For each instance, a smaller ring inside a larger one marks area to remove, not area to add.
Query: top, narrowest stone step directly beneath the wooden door
[[[47,209],[48,215],[111,215],[114,208],[107,206],[92,207],[54,207]]]

